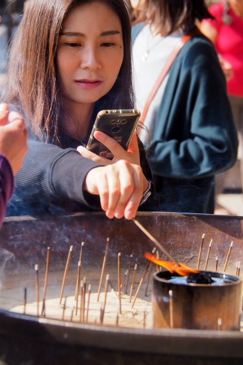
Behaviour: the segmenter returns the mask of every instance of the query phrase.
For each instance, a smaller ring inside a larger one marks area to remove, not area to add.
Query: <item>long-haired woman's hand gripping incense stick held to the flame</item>
[[[108,218],[131,219],[136,215],[144,190],[139,165],[120,160],[95,167],[87,173],[84,189],[99,195],[101,208]],[[148,185],[148,184],[147,184]]]

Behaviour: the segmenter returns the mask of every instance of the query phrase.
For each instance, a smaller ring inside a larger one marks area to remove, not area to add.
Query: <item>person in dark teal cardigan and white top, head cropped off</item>
[[[151,140],[142,141],[161,210],[213,213],[215,174],[236,162],[238,139],[214,46],[195,27],[209,16],[206,6],[203,0],[141,0],[136,6],[133,59],[141,111],[167,48],[172,52],[183,34],[196,34],[176,56],[144,120]]]

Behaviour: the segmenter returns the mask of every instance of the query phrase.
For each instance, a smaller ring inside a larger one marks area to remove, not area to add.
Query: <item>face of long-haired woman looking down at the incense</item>
[[[105,3],[74,7],[65,18],[57,49],[64,102],[93,104],[113,87],[123,60],[122,25]]]

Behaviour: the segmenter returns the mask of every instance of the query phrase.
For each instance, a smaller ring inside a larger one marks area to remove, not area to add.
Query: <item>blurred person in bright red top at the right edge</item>
[[[214,19],[205,19],[200,26],[215,45],[227,80],[227,91],[238,130],[241,187],[243,187],[243,0],[219,1],[209,7]],[[218,176],[221,192],[228,174]],[[232,178],[233,179],[233,176]]]

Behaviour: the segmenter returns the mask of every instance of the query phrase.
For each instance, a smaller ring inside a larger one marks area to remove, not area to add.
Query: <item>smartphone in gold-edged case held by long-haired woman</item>
[[[114,157],[106,146],[94,138],[94,132],[101,131],[114,138],[127,151],[139,118],[140,111],[137,109],[99,111],[88,139],[87,150],[109,159]]]

